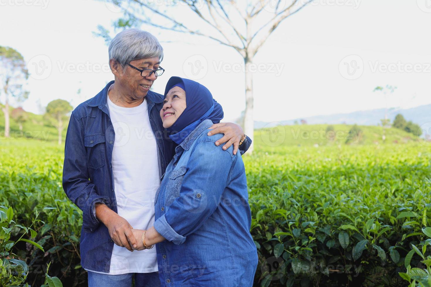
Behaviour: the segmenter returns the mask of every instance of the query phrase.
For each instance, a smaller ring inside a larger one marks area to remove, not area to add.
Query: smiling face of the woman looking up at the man
[[[186,92],[179,86],[174,86],[166,94],[163,108],[160,110],[163,127],[171,127],[186,108]]]

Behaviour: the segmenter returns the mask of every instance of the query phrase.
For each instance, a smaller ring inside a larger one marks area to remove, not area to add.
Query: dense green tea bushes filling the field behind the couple
[[[256,149],[244,157],[259,252],[256,286],[407,286],[427,280],[429,147]],[[37,235],[27,239],[45,252],[16,244],[34,286],[44,283],[48,262],[49,274],[64,286],[86,284],[78,252],[81,211],[62,190],[62,158],[63,149],[50,143],[0,143],[0,205],[13,207],[22,225],[34,221],[36,210],[43,221],[34,223]]]

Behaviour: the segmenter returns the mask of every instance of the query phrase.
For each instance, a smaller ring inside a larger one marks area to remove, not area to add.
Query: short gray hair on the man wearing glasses
[[[118,33],[109,44],[109,61],[111,59],[125,68],[130,61],[157,57],[163,59],[163,48],[159,41],[147,31],[136,28]]]

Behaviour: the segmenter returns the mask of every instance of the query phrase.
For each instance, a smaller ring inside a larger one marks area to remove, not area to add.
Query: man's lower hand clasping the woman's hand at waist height
[[[126,247],[132,252],[134,248],[137,248],[136,239],[132,232],[133,227],[126,219],[119,216],[105,204],[99,203],[96,204],[96,218],[108,228],[109,236],[115,244]]]

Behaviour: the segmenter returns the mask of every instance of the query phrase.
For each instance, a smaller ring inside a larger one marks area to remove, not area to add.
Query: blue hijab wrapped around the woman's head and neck
[[[219,123],[223,118],[223,108],[215,99],[212,99],[211,93],[205,86],[180,77],[169,79],[165,97],[174,86],[179,86],[186,92],[187,107],[175,123],[166,130],[169,132],[169,138],[179,145],[203,120],[209,119],[212,123]]]

